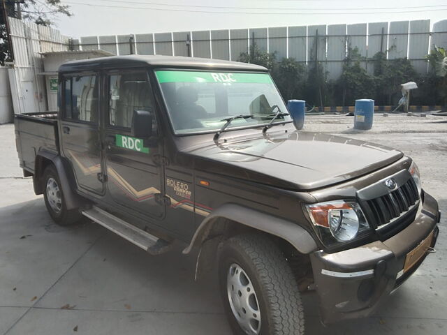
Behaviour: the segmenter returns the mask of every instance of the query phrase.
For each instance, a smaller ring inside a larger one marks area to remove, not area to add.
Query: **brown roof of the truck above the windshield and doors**
[[[210,70],[248,70],[268,71],[263,66],[241,63],[239,61],[223,61],[220,59],[207,59],[196,57],[161,56],[161,55],[129,55],[101,57],[67,61],[59,67],[59,72],[72,72],[79,70],[99,70],[103,68],[132,68],[149,66],[152,68],[198,68]]]

